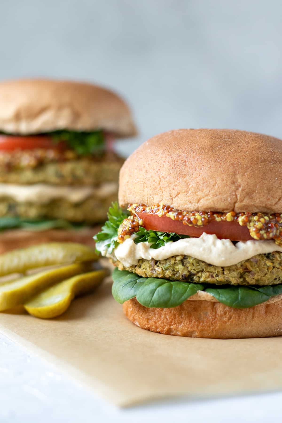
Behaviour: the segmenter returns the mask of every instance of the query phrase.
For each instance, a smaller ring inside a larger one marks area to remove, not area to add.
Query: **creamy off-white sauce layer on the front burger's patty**
[[[208,235],[205,232],[200,238],[185,238],[167,242],[157,250],[150,248],[148,242],[134,244],[135,237],[136,235],[131,235],[129,239],[118,245],[111,255],[106,250],[102,252],[102,255],[116,258],[126,267],[137,264],[140,258],[164,260],[173,255],[190,255],[206,263],[214,264],[214,266],[231,266],[257,254],[282,252],[282,247],[272,240],[256,241],[254,239],[246,242],[240,241],[234,245],[229,239],[218,239],[216,235]]]

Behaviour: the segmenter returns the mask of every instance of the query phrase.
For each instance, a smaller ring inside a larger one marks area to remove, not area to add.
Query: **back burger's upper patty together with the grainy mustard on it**
[[[98,185],[118,181],[123,162],[112,151],[99,157],[79,157],[70,150],[56,154],[52,149],[0,152],[0,183]]]

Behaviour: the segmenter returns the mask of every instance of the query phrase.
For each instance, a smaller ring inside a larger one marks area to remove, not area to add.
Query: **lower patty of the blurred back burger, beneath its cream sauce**
[[[0,200],[0,217],[64,219],[70,222],[93,224],[105,220],[112,201],[116,199],[117,193],[107,198],[92,195],[85,201],[75,204],[66,200],[54,200],[47,204],[17,203],[12,199],[3,198]]]

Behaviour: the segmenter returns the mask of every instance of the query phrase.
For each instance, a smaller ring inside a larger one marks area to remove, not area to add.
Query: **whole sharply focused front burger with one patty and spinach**
[[[129,320],[187,337],[282,335],[281,166],[281,140],[225,129],[165,132],[126,160],[96,248]]]

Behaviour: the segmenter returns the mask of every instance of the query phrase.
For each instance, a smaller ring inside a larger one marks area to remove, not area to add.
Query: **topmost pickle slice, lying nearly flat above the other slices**
[[[36,267],[53,264],[98,260],[94,250],[74,242],[49,242],[13,250],[0,255],[0,276],[24,273]]]

